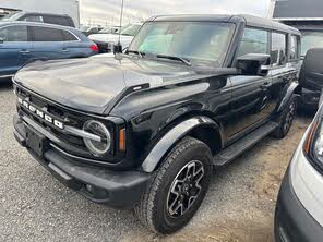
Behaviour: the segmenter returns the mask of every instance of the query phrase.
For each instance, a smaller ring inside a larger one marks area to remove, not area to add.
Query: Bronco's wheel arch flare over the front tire
[[[141,165],[141,169],[145,172],[156,170],[169,150],[184,136],[202,141],[213,154],[223,147],[224,138],[219,125],[205,116],[192,117],[178,123],[155,144]]]

